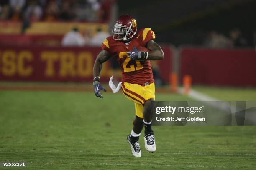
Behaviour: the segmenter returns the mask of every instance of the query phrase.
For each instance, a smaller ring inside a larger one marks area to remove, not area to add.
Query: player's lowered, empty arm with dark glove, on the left
[[[102,50],[99,55],[97,56],[94,66],[93,66],[93,87],[94,87],[94,94],[97,97],[103,98],[102,94],[100,94],[100,90],[105,90],[102,85],[100,84],[100,71],[102,69],[103,62],[106,62],[108,59],[110,59],[110,55],[106,50]]]

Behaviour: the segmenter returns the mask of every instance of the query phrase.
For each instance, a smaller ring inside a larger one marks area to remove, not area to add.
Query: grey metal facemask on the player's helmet
[[[128,39],[131,39],[136,34],[136,31],[135,31],[132,36],[128,36],[133,32],[133,30],[131,29],[131,26],[132,24],[130,25],[130,27],[126,27],[126,26],[122,26],[122,24],[116,23],[112,29],[113,39],[119,40],[119,41],[120,40],[125,41]]]

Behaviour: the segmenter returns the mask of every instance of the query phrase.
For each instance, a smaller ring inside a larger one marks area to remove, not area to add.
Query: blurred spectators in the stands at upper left
[[[111,0],[1,0],[0,20],[93,21],[109,20]]]

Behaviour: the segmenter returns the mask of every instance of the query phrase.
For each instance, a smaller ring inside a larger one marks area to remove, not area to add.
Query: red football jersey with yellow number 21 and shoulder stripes
[[[121,82],[143,86],[154,82],[150,60],[133,61],[126,52],[131,51],[133,47],[145,47],[149,40],[155,38],[155,33],[150,28],[142,28],[134,35],[133,40],[128,45],[114,40],[113,36],[107,37],[103,41],[102,49],[115,57],[121,67],[123,75]]]

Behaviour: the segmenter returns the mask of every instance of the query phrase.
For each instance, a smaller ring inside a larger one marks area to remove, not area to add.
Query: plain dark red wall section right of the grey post
[[[179,57],[181,81],[190,75],[194,85],[256,86],[255,50],[185,47]]]

